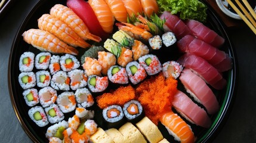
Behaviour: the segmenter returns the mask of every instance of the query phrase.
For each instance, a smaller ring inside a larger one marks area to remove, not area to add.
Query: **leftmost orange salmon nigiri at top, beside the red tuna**
[[[112,33],[115,18],[104,0],[89,0],[92,10],[100,22],[100,25],[104,32]]]

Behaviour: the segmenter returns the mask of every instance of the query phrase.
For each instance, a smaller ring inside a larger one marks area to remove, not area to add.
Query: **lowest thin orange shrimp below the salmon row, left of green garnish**
[[[139,35],[142,39],[149,40],[153,35],[147,30],[142,29],[140,27],[136,27],[129,23],[116,23],[116,26],[118,26],[119,29],[124,30],[125,32],[131,32],[135,35]]]

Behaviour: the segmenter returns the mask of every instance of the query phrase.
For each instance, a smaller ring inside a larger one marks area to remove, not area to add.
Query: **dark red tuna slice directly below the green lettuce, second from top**
[[[186,24],[192,32],[192,35],[196,38],[201,39],[202,41],[205,41],[206,43],[209,43],[209,45],[215,47],[220,47],[221,45],[223,45],[225,41],[224,38],[222,38],[216,32],[209,29],[199,21],[187,20]]]

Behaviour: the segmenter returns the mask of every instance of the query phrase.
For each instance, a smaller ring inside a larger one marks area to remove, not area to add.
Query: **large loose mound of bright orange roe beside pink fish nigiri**
[[[176,92],[177,80],[172,77],[165,79],[162,74],[150,77],[135,89],[146,116],[155,125],[158,125],[161,114],[171,109],[171,101]]]

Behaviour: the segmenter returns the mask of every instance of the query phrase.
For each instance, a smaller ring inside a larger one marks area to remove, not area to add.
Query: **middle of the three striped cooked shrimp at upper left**
[[[55,18],[50,14],[43,14],[38,19],[38,27],[41,30],[52,33],[57,38],[71,46],[81,46],[87,48],[89,43],[85,42],[80,36],[78,36],[66,23],[58,18]]]

